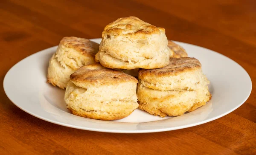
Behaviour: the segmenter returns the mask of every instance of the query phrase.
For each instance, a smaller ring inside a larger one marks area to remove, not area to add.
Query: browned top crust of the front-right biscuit
[[[164,68],[157,69],[140,69],[139,79],[144,79],[145,76],[176,76],[179,73],[189,70],[201,68],[201,63],[198,59],[190,57],[170,58],[170,63]]]

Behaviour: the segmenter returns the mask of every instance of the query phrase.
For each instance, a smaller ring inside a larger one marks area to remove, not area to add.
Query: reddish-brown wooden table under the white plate
[[[6,97],[3,78],[21,59],[58,45],[64,36],[99,38],[105,25],[131,15],[166,28],[169,39],[209,48],[238,62],[253,81],[249,99],[227,116],[196,127],[115,134],[43,121]],[[254,0],[0,0],[0,47],[1,155],[256,155]]]

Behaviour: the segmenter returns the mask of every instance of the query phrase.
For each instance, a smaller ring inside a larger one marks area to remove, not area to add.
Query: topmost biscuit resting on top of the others
[[[95,59],[107,68],[163,68],[171,53],[167,45],[164,28],[137,17],[119,18],[104,28]]]

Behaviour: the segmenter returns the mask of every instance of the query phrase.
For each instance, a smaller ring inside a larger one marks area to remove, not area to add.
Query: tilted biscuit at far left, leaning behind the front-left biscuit
[[[47,82],[62,89],[67,87],[70,74],[83,65],[93,64],[99,44],[89,39],[64,37],[49,62]]]

